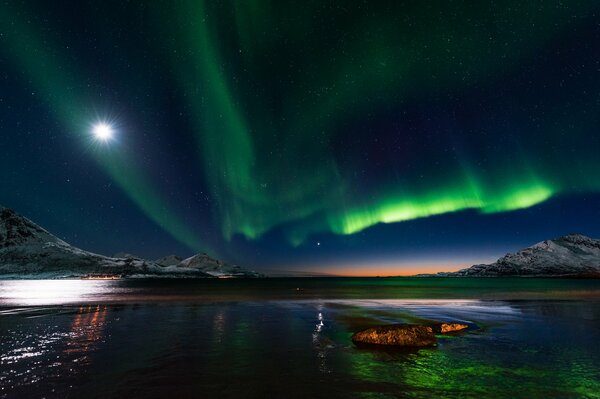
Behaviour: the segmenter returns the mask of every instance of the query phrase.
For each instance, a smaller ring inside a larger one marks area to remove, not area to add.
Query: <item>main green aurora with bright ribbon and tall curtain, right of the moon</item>
[[[423,92],[435,96],[438,86],[460,89],[465,76],[471,85],[493,78],[500,66],[522,62],[527,52],[569,26],[562,18],[568,7],[505,3],[500,10],[464,7],[468,15],[460,18],[452,13],[456,5],[438,4],[438,20],[428,15],[429,7],[414,5],[408,10],[412,19],[404,24],[385,8],[373,7],[373,15],[353,21],[360,28],[350,30],[349,40],[337,37],[335,29],[328,31],[326,21],[315,16],[317,3],[188,1],[168,10],[178,15],[176,33],[168,40],[178,44],[177,54],[184,54],[173,62],[181,89],[195,101],[202,170],[224,237],[257,239],[282,227],[299,245],[315,233],[353,234],[378,223],[468,209],[506,212],[575,187],[600,189],[598,179],[579,173],[582,165],[565,169],[569,161],[544,159],[543,151],[515,151],[510,164],[494,163],[492,157],[485,173],[465,167],[464,159],[446,159],[438,168],[420,170],[427,187],[409,175],[368,193],[351,170],[336,163],[331,141],[354,113],[419,98]],[[158,12],[164,15],[164,5]],[[343,16],[336,17],[346,27]],[[464,19],[486,23],[465,25],[460,23]],[[517,40],[525,36],[529,39]],[[339,46],[321,45],[323,37]],[[282,48],[282,40],[293,50]],[[276,94],[261,84],[275,86]],[[585,167],[598,170],[590,155]]]

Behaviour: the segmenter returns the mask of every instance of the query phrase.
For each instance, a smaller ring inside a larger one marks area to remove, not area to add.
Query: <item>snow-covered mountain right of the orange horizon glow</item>
[[[556,276],[600,273],[600,240],[569,234],[546,240],[488,265],[474,265],[448,276]]]

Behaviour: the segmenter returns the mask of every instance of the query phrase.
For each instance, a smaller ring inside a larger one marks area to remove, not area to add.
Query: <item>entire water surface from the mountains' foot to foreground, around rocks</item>
[[[472,328],[350,341],[431,320]],[[600,398],[599,342],[597,280],[0,281],[3,398]]]

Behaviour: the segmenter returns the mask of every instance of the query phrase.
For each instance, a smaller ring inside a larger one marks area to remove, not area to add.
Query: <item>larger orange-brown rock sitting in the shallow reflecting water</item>
[[[423,347],[437,343],[431,326],[392,324],[358,331],[352,335],[355,344]]]

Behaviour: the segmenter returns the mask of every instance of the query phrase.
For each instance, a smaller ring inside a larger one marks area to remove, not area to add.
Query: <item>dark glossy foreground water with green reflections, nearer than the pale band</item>
[[[412,352],[350,341],[424,319],[481,328]],[[592,301],[0,308],[0,398],[596,397],[599,320]]]

